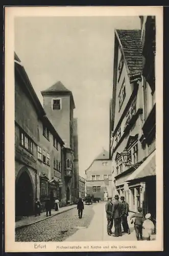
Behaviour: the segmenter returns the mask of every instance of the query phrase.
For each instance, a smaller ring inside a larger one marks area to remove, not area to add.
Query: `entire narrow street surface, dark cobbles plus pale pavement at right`
[[[105,202],[84,205],[82,219],[76,208],[52,218],[16,230],[16,242],[61,241],[135,241],[134,226],[129,221],[131,234],[114,238],[107,234]],[[114,231],[114,227],[112,228]]]

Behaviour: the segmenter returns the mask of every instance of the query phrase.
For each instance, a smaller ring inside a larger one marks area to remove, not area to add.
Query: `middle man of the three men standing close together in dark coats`
[[[114,219],[114,237],[122,236],[122,203],[118,201],[118,195],[115,195],[113,203],[112,216]]]

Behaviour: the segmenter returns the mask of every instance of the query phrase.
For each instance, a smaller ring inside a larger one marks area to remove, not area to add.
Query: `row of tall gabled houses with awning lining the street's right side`
[[[149,18],[141,17],[141,30],[115,30],[110,155],[113,193],[125,196],[131,211],[140,206],[155,219],[155,76],[154,58],[148,55],[154,49],[155,23]]]

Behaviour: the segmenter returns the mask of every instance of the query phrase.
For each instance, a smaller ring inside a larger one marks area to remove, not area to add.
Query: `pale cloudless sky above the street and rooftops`
[[[79,174],[109,150],[114,29],[140,29],[138,16],[16,17],[15,52],[42,104],[57,81],[73,93],[78,118]]]

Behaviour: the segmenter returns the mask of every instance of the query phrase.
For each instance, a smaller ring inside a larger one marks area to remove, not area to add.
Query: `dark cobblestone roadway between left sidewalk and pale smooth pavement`
[[[16,242],[61,242],[79,228],[88,227],[94,216],[93,205],[85,205],[82,219],[76,208],[15,231]]]

